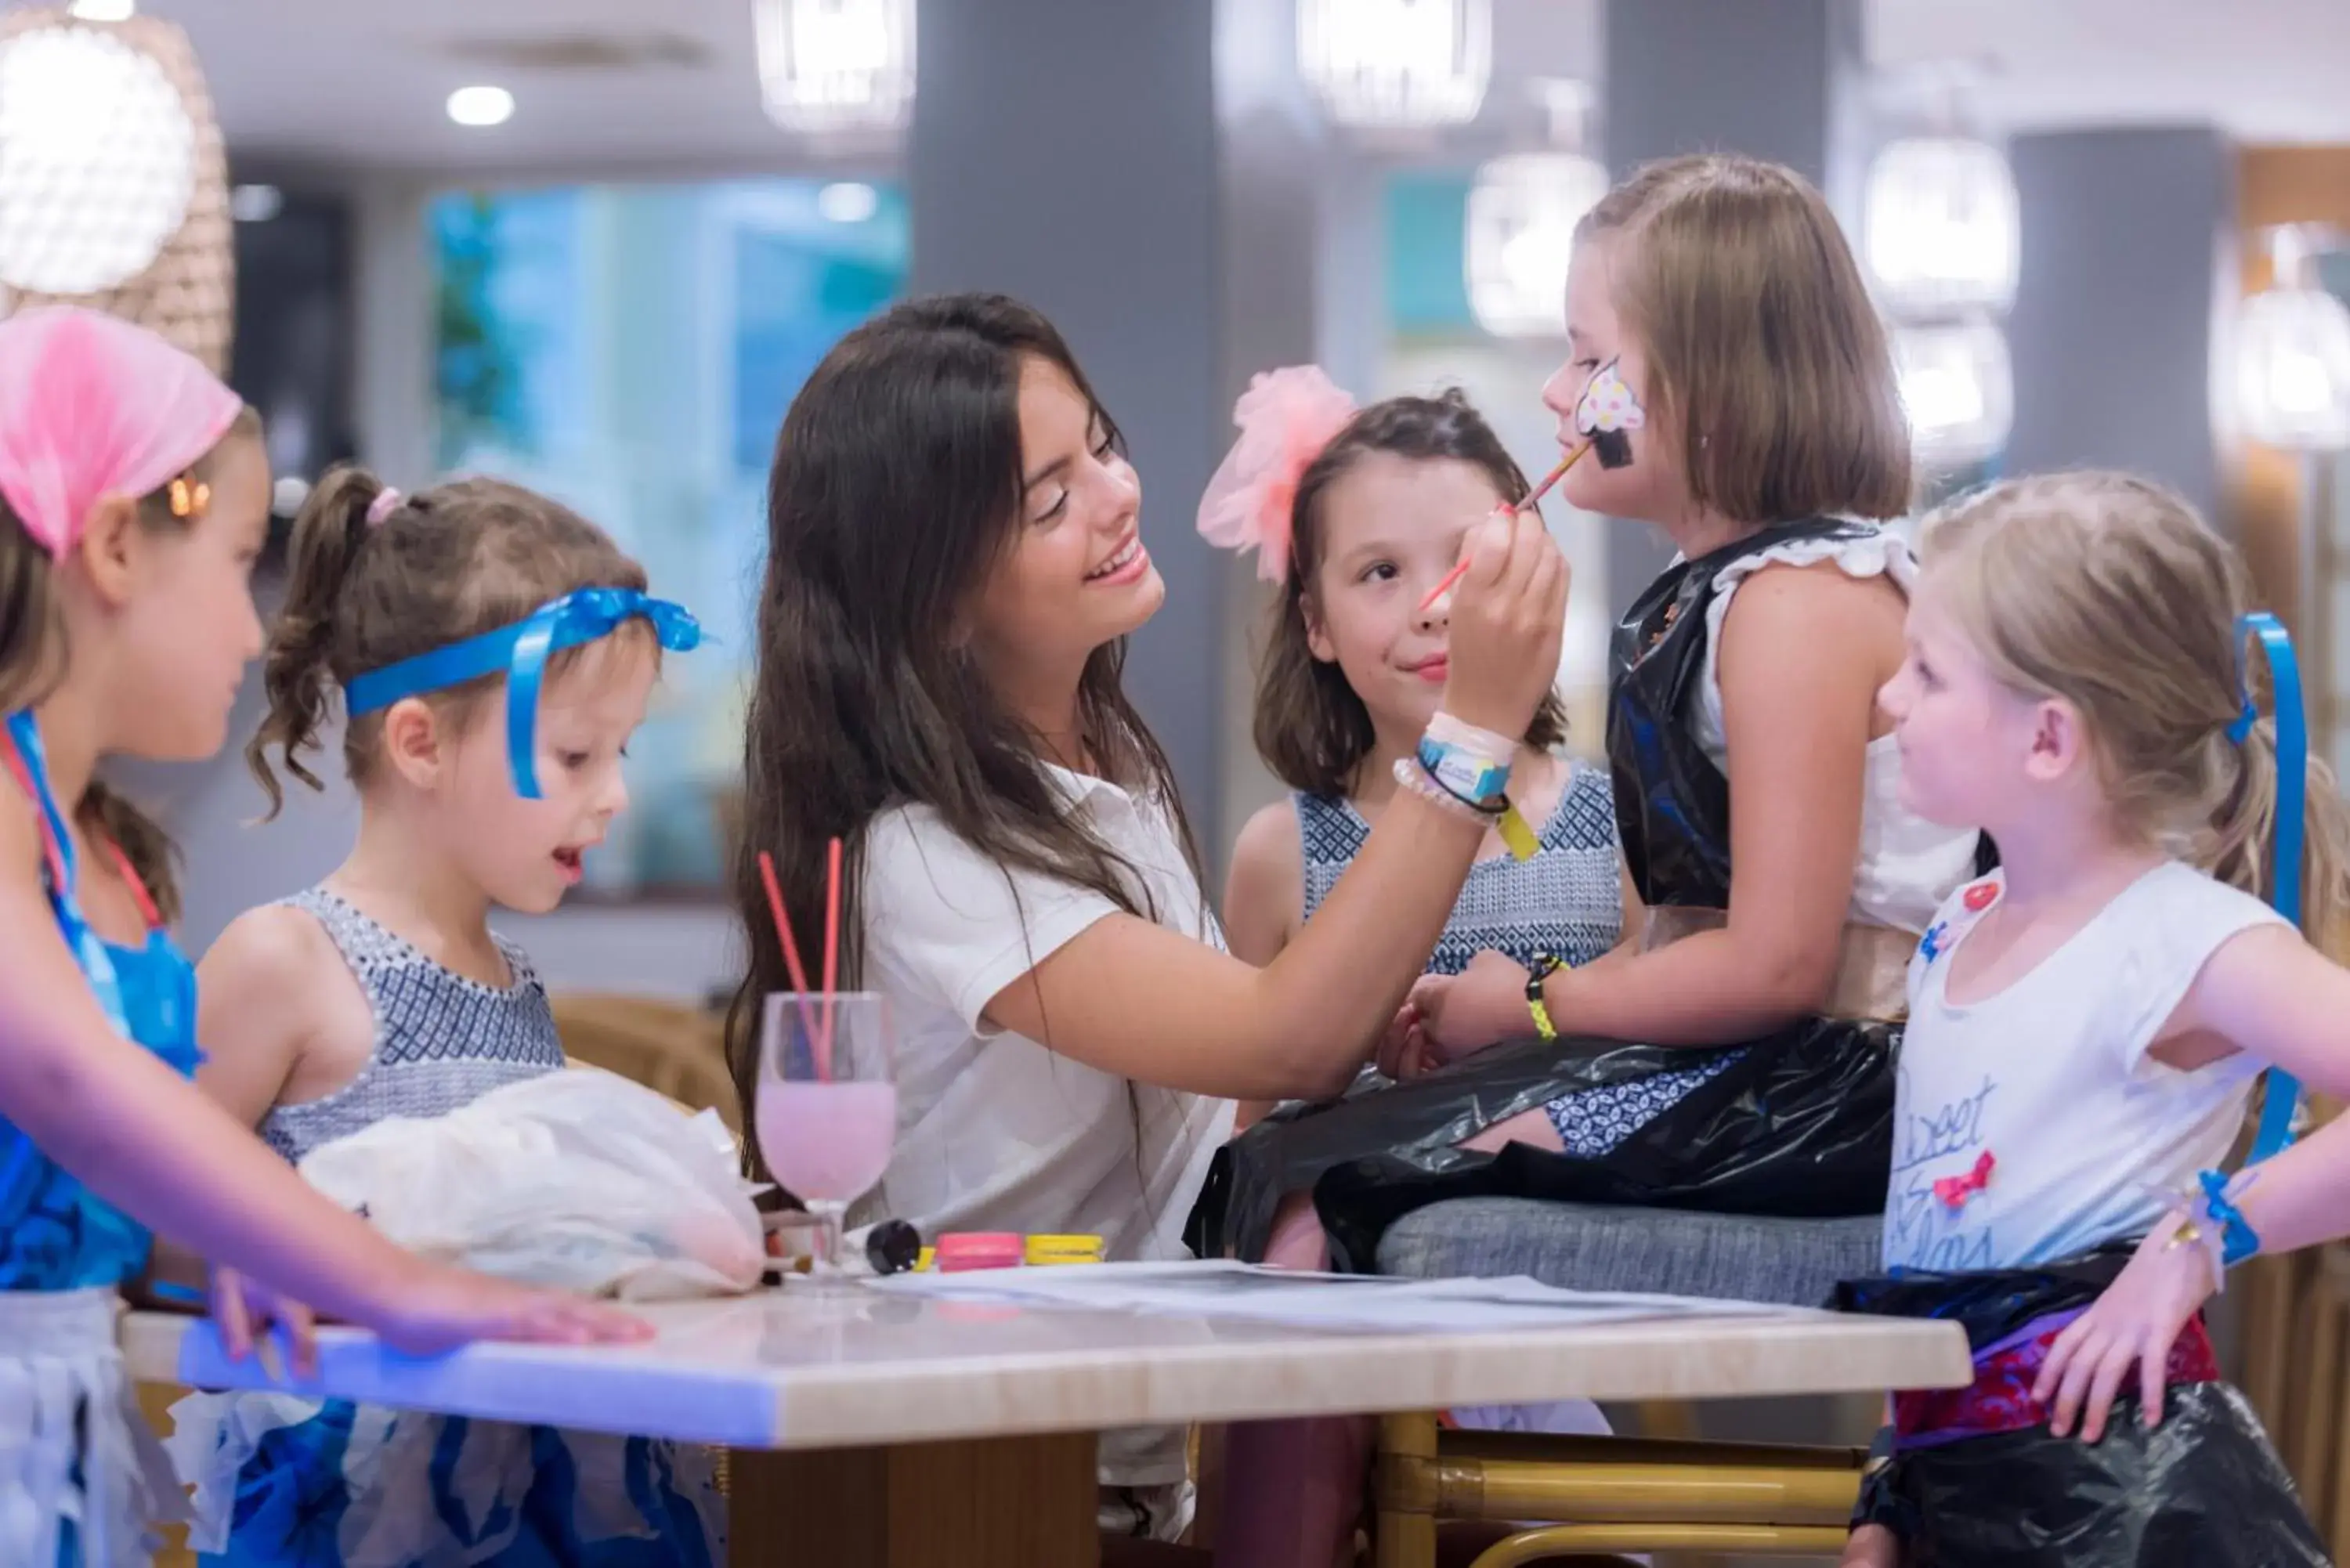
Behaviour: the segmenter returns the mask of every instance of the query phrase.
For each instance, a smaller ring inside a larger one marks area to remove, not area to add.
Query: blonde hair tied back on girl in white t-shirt
[[[2277,726],[2228,738],[2244,708],[2244,562],[2186,501],[2120,473],[2007,480],[1927,520],[1925,569],[2002,684],[2080,710],[2124,830],[2270,893]],[[2350,811],[2315,752],[2305,813],[2301,929],[2338,950]]]

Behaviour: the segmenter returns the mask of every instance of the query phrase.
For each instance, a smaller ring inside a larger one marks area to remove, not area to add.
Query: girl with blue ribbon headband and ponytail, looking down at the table
[[[273,806],[273,762],[315,785],[303,755],[341,693],[360,835],[322,884],[204,954],[200,1086],[301,1161],[385,1117],[559,1072],[545,987],[489,914],[552,910],[578,884],[627,806],[620,759],[660,658],[698,639],[637,562],[545,496],[329,475],[294,524],[249,762]],[[195,1394],[176,1422],[193,1540],[240,1568],[724,1561],[698,1448],[237,1394]],[[374,1458],[345,1462],[355,1450]]]

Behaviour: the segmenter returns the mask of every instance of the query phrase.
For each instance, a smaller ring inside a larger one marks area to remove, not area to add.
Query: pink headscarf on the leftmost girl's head
[[[103,496],[136,501],[188,473],[244,409],[153,331],[75,306],[0,322],[0,496],[52,557]]]

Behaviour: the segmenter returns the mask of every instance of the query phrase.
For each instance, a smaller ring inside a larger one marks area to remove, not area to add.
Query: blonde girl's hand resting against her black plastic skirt
[[[2049,1432],[2056,1436],[2073,1432],[2075,1418],[2082,1441],[2106,1436],[2113,1396],[2131,1366],[2138,1368],[2146,1425],[2162,1425],[2162,1380],[2171,1345],[2218,1286],[2211,1279],[2211,1253],[2176,1237],[2178,1215],[2171,1215],[2138,1244],[2138,1253],[2106,1293],[2056,1335],[2033,1382],[2033,1399],[2054,1406]]]

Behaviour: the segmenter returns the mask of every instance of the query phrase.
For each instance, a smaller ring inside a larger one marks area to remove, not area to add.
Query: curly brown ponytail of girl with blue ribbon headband
[[[369,508],[383,491],[383,480],[345,463],[317,482],[294,520],[294,541],[287,552],[287,599],[261,656],[268,715],[244,748],[244,764],[270,797],[263,820],[284,806],[284,785],[270,771],[270,750],[277,750],[289,776],[313,790],[324,788],[301,755],[317,750],[317,736],[327,726],[343,585],[367,545]]]

